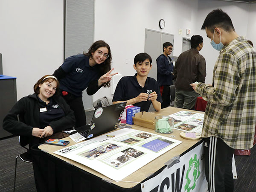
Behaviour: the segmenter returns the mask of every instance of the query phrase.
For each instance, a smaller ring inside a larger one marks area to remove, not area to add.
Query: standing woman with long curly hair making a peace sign
[[[105,41],[96,41],[88,52],[73,55],[53,73],[60,81],[60,90],[67,104],[74,111],[75,127],[86,125],[86,116],[82,101],[82,91],[93,95],[100,87],[109,87],[111,74],[111,50]]]

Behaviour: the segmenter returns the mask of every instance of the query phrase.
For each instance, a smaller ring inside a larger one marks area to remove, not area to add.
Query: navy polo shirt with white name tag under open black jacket
[[[37,96],[38,97],[38,96]],[[65,116],[63,109],[59,106],[54,99],[49,98],[48,105],[46,102],[42,101],[38,97],[39,102],[39,119],[40,119],[40,128],[44,129],[47,127],[52,121],[56,121]]]

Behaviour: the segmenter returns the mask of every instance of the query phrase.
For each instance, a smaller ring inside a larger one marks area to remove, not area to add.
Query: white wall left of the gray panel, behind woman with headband
[[[63,0],[1,0],[3,75],[17,77],[17,99],[63,61]]]

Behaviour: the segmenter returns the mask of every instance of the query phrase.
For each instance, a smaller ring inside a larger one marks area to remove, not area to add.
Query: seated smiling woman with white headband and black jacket
[[[39,79],[34,85],[35,93],[21,98],[3,119],[3,128],[14,135],[27,136],[29,148],[48,138],[60,139],[53,134],[72,128],[75,116],[65,100],[55,95],[58,84],[54,76]],[[22,121],[18,121],[18,114]]]

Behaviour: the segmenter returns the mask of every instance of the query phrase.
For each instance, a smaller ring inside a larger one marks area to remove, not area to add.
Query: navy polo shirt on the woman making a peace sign
[[[67,58],[61,68],[67,76],[60,80],[60,89],[75,96],[82,96],[90,81],[99,79],[99,66],[90,67],[89,57],[83,54]]]

